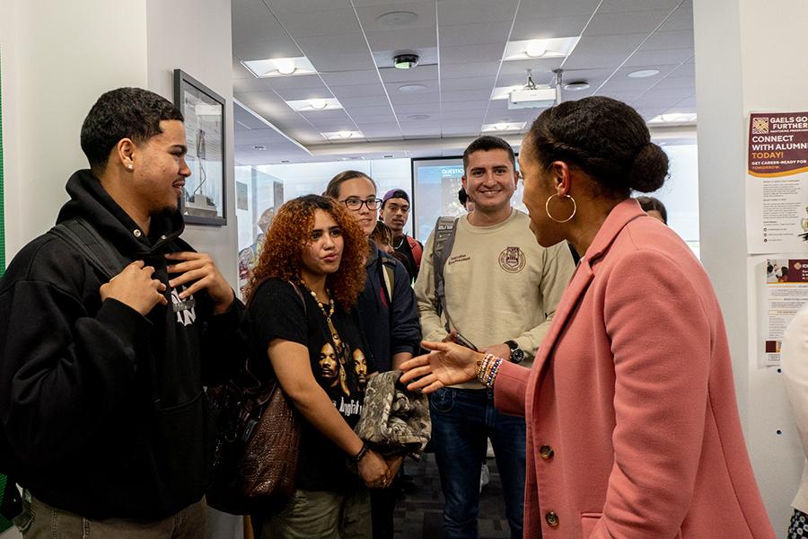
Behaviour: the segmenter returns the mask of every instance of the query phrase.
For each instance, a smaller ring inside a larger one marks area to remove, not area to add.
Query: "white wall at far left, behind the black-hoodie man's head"
[[[6,261],[55,223],[68,176],[87,168],[92,103],[146,85],[145,24],[142,1],[0,2]]]

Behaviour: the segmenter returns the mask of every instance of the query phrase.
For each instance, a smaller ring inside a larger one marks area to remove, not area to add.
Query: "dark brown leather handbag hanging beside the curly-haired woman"
[[[261,384],[245,366],[207,393],[219,415],[207,504],[249,515],[288,499],[294,492],[300,420],[277,380]]]

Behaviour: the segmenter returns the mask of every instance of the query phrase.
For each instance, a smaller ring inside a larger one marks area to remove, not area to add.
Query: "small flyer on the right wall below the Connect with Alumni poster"
[[[786,327],[808,301],[808,258],[766,261],[766,326],[763,331],[763,365],[779,365],[780,343]]]

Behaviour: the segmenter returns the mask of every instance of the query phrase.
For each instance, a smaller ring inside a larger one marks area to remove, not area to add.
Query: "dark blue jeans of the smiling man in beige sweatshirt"
[[[444,536],[476,538],[479,472],[491,438],[512,539],[522,537],[524,419],[499,413],[494,392],[447,387],[429,396],[432,444],[444,490]]]

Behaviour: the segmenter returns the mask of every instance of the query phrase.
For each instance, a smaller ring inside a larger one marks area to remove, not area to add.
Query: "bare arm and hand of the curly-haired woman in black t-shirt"
[[[348,426],[329,395],[314,379],[309,350],[298,342],[273,339],[269,341],[267,354],[285,395],[303,418],[348,457],[358,455],[364,442]],[[382,486],[388,467],[381,455],[368,450],[357,465],[365,485],[369,488]]]

